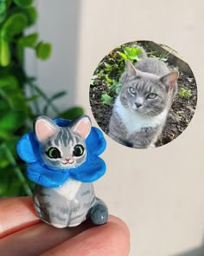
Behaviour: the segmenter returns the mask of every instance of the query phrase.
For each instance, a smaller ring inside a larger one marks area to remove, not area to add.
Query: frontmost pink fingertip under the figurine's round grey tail
[[[124,221],[110,216],[102,226],[94,226],[43,255],[126,256],[130,250],[130,232]]]

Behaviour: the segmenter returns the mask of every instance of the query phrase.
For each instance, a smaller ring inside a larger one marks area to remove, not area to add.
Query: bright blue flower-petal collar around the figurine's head
[[[55,119],[59,127],[67,127],[71,121]],[[99,158],[106,146],[105,138],[99,128],[92,127],[86,138],[86,161],[80,167],[56,168],[48,167],[41,160],[40,143],[36,140],[35,133],[29,132],[17,142],[16,150],[23,161],[27,162],[27,175],[29,180],[43,187],[59,187],[68,179],[82,182],[97,181],[105,174],[105,161]]]

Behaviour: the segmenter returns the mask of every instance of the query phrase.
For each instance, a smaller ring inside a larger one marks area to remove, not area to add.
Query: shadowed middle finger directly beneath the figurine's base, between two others
[[[41,222],[0,240],[0,254],[8,256],[40,255],[90,226],[92,224],[88,221],[80,226],[67,228],[56,228]]]

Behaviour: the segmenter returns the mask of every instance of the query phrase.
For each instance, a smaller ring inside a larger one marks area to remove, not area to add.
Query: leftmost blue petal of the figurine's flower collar
[[[22,160],[26,161],[27,163],[33,163],[37,161],[37,157],[35,155],[37,148],[38,145],[35,141],[33,132],[23,135],[16,145],[17,154],[19,154]]]

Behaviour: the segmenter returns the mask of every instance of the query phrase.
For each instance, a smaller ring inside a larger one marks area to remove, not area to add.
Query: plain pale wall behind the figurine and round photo
[[[48,95],[66,89],[61,110],[89,105],[89,83],[99,61],[120,44],[165,43],[194,71],[199,102],[194,119],[162,148],[124,148],[105,135],[107,173],[95,183],[110,212],[131,230],[131,256],[204,255],[204,36],[201,0],[37,1],[41,39],[53,44],[48,62],[30,57],[31,74]]]

